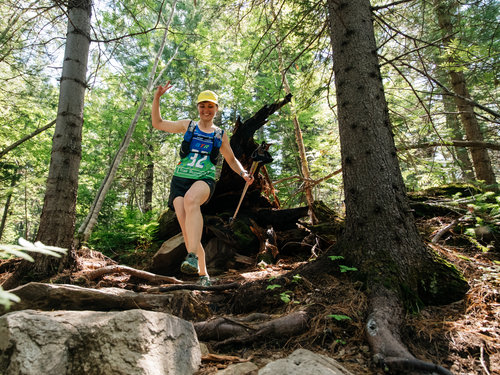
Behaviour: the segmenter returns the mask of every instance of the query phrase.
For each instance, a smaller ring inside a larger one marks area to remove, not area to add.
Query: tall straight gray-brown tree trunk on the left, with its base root
[[[59,87],[56,127],[44,205],[36,240],[45,245],[72,249],[76,219],[78,172],[81,160],[83,108],[90,47],[91,0],[70,0],[63,71]],[[34,254],[34,263],[22,261],[3,283],[17,286],[30,273],[33,279],[53,275],[74,261],[69,251],[62,258]]]

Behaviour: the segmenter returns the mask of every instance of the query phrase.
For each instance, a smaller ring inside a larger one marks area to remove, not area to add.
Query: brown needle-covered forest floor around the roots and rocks
[[[431,237],[439,228],[447,224],[446,218],[432,218],[418,222],[424,237]],[[450,234],[452,236],[453,234]],[[450,241],[453,242],[453,241]],[[407,315],[402,328],[403,342],[419,359],[439,364],[457,375],[500,374],[500,254],[482,252],[473,245],[450,246],[432,244],[438,253],[459,268],[469,282],[470,290],[466,297],[446,306],[429,306],[418,313]],[[106,258],[92,251],[96,262]],[[96,256],[96,254],[98,254]],[[304,309],[312,312],[307,332],[286,339],[266,339],[248,345],[229,346],[214,349],[214,343],[206,343],[210,353],[218,354],[205,357],[196,375],[214,374],[231,363],[252,361],[259,367],[285,357],[298,348],[309,349],[337,360],[353,374],[383,374],[372,361],[370,348],[365,338],[365,319],[367,297],[361,284],[350,281],[348,274],[338,276],[318,275],[314,280],[297,278],[289,284],[290,290],[273,289],[273,278],[290,273],[311,254],[283,256],[275,265],[258,267],[247,265],[245,268],[228,270],[215,276],[216,284],[231,282],[250,283],[264,281],[269,285],[266,298],[259,306],[260,313],[273,317]],[[88,270],[96,264],[87,254],[81,254],[80,264]],[[134,258],[141,264],[128,264],[144,269],[144,259],[151,253],[136,253]],[[102,267],[102,265],[101,265]],[[85,269],[78,273],[85,272]],[[6,275],[0,275],[1,279]],[[74,275],[76,278],[78,275]],[[189,281],[189,278],[180,275]],[[67,275],[65,277],[68,280]],[[74,279],[71,277],[70,279]],[[81,278],[80,278],[81,280]],[[193,279],[194,280],[194,279]],[[67,282],[67,281],[66,281]],[[135,285],[134,285],[135,283]],[[127,289],[140,289],[144,285],[127,275],[110,274],[104,276],[96,285],[89,283],[81,286],[115,286]],[[147,286],[146,286],[147,287]],[[213,312],[213,317],[231,315],[231,301],[236,291],[197,293]],[[283,294],[284,293],[284,294]],[[310,314],[311,315],[311,314]],[[232,315],[231,315],[232,316]],[[233,316],[234,317],[234,316]]]

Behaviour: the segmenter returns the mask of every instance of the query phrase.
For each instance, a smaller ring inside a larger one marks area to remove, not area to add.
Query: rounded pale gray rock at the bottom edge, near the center
[[[337,361],[306,349],[297,349],[286,358],[261,368],[258,375],[353,375]]]

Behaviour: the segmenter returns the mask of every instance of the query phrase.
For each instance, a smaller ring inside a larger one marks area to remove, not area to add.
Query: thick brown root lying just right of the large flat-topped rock
[[[194,323],[198,339],[202,341],[221,340],[214,344],[218,348],[224,345],[249,344],[261,339],[286,338],[304,332],[309,318],[305,311],[296,311],[267,322],[251,325],[249,320],[267,317],[265,314],[249,316],[246,319],[217,318]]]

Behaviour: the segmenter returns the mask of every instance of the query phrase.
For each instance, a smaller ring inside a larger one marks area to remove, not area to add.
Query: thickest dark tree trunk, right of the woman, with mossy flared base
[[[330,254],[341,252],[365,281],[372,301],[369,342],[381,364],[391,367],[393,357],[413,363],[398,339],[397,312],[419,301],[462,298],[467,284],[436,261],[415,226],[389,121],[369,0],[328,0],[328,10],[346,206],[345,232]],[[441,280],[442,275],[447,279]],[[440,280],[442,289],[433,289],[432,279]],[[381,310],[384,304],[392,306],[393,315]]]

